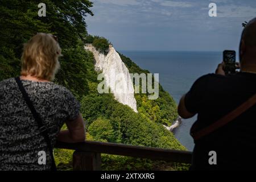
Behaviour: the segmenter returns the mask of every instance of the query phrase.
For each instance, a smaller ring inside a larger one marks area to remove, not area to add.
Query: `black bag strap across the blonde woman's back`
[[[30,97],[28,97],[28,94],[27,94],[26,90],[24,89],[24,87],[22,85],[22,82],[20,81],[20,78],[16,77],[15,80],[16,80],[18,86],[19,86],[20,92],[22,92],[24,100],[26,101],[28,107],[31,110],[31,113],[32,113],[33,117],[35,118],[35,121],[38,123],[40,134],[42,134],[43,137],[44,137],[44,140],[46,140],[46,143],[47,143],[47,146],[48,146],[48,149],[49,149],[49,154],[51,155],[51,159],[52,159],[51,170],[56,171],[56,165],[55,165],[55,161],[54,161],[54,157],[53,157],[53,148],[52,148],[52,145],[51,145],[51,140],[49,139],[47,128],[43,124],[40,115],[36,112],[35,107],[33,106],[32,102],[30,100]]]

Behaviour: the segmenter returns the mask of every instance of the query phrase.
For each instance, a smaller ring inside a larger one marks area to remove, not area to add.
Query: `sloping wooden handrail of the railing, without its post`
[[[57,142],[55,148],[65,148],[78,152],[94,152],[99,154],[112,154],[122,156],[133,156],[153,160],[164,160],[168,162],[191,163],[192,152],[170,150],[163,148],[131,146],[120,143],[105,143],[86,141],[81,143]]]

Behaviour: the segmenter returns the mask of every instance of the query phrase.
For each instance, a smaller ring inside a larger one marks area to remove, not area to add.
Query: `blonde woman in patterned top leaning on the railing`
[[[85,140],[79,102],[52,82],[59,56],[55,36],[36,34],[24,45],[21,76],[0,82],[1,170],[54,170],[56,140]],[[64,123],[68,130],[60,131]]]

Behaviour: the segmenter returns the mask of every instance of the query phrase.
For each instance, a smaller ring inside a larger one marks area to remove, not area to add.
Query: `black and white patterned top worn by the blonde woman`
[[[78,117],[80,104],[53,82],[22,80],[28,96],[49,131],[52,145],[64,122]],[[46,164],[38,159],[46,152]],[[51,156],[14,78],[0,82],[0,170],[48,170]]]

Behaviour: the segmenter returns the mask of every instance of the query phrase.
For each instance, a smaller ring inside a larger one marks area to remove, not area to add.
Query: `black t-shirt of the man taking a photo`
[[[197,113],[196,131],[216,122],[256,93],[256,74],[200,77],[185,96],[185,107]],[[217,164],[210,165],[210,151]],[[256,105],[213,133],[195,141],[192,169],[256,169]]]

